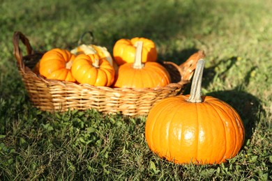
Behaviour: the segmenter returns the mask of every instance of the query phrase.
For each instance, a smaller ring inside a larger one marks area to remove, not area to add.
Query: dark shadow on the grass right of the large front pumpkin
[[[215,68],[219,64],[223,63],[226,65],[224,72],[227,72],[233,65],[235,65],[236,61],[237,57],[234,56],[227,60],[220,61],[213,67],[204,70],[204,81],[202,86],[207,86],[209,82],[212,81],[213,77],[216,76]],[[264,111],[264,109],[262,109],[262,101],[254,95],[244,91],[245,87],[248,86],[250,82],[250,74],[253,70],[255,70],[255,67],[252,67],[248,70],[248,73],[245,74],[243,85],[236,86],[233,90],[215,91],[206,94],[227,102],[239,113],[245,127],[245,140],[250,139],[252,136],[257,122],[259,121],[258,114]]]

